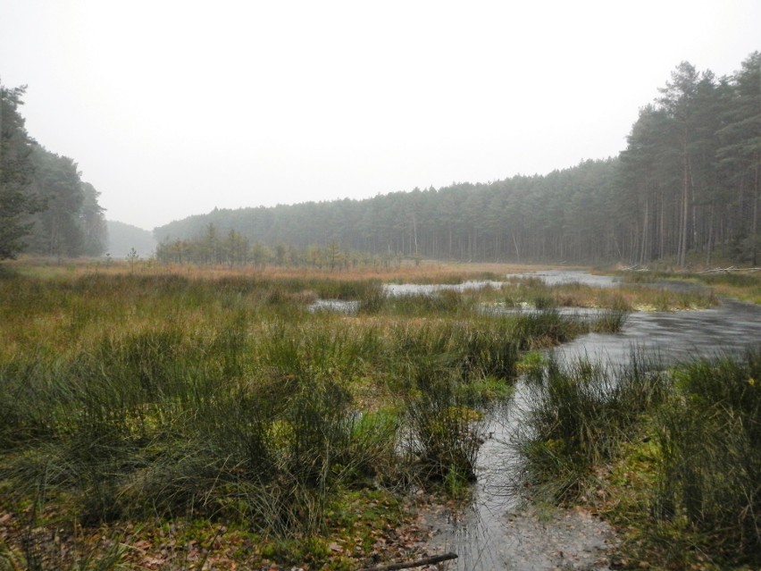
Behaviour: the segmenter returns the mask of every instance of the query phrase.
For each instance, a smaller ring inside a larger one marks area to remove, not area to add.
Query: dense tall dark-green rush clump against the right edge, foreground
[[[761,350],[682,365],[656,416],[656,518],[686,523],[723,559],[761,564]]]

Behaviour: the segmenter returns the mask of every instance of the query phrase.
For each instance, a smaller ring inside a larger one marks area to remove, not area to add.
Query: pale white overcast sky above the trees
[[[0,0],[29,135],[146,230],[615,156],[759,49],[759,0]]]

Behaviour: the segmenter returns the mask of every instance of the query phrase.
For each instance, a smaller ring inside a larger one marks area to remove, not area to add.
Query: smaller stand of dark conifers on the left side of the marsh
[[[0,85],[0,260],[21,252],[100,256],[107,245],[100,193],[71,158],[29,137],[24,93]]]

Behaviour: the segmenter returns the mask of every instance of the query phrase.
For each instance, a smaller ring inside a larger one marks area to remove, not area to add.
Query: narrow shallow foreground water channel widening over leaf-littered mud
[[[481,427],[485,441],[471,501],[426,513],[434,531],[427,548],[454,551],[459,557],[447,568],[457,571],[608,569],[616,541],[610,525],[584,510],[537,507],[521,498],[510,439],[523,394],[519,384],[514,399],[490,411]]]

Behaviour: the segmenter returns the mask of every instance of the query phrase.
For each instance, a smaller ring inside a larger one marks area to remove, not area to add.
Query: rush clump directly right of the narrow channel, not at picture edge
[[[525,477],[539,495],[564,504],[587,493],[595,469],[615,457],[640,416],[665,395],[665,375],[636,351],[618,370],[550,357],[527,371],[517,441]]]

